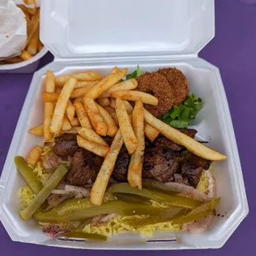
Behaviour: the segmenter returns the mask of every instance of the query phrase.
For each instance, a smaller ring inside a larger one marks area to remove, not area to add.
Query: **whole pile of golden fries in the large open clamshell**
[[[138,84],[134,78],[120,82],[126,73],[127,69],[115,67],[105,78],[95,71],[55,78],[55,74],[48,70],[42,94],[44,124],[30,130],[33,134],[44,135],[46,142],[55,135],[77,134],[81,148],[104,158],[91,192],[91,201],[95,205],[102,203],[123,144],[131,155],[128,182],[130,187],[141,189],[145,136],[154,140],[161,133],[204,159],[225,159],[225,155],[207,148],[146,111],[143,104],[156,106],[158,99],[136,91]],[[111,146],[102,139],[107,135],[114,137]],[[33,158],[30,162],[35,164]]]

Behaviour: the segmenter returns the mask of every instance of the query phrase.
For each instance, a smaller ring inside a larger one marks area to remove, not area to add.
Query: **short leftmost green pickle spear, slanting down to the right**
[[[43,188],[43,185],[42,183],[40,183],[40,180],[36,178],[36,175],[35,173],[33,173],[33,170],[28,166],[26,160],[23,159],[21,156],[16,156],[14,162],[19,173],[21,173],[21,176],[26,181],[27,186],[30,187],[31,191],[37,195]]]

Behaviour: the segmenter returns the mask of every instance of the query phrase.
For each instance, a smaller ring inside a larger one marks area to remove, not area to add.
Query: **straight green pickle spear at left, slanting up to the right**
[[[64,175],[68,172],[68,169],[64,165],[60,164],[56,169],[55,173],[51,175],[45,187],[43,187],[36,197],[31,201],[31,203],[20,212],[23,220],[31,218],[31,216],[37,211],[45,199],[50,195],[50,193],[59,184]]]

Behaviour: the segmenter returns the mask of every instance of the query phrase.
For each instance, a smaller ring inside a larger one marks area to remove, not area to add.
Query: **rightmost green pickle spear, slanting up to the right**
[[[219,204],[220,198],[214,198],[210,201],[206,201],[201,204],[201,206],[198,206],[195,209],[192,209],[187,215],[185,216],[179,216],[177,218],[173,219],[173,224],[184,224],[187,222],[192,222],[194,220],[199,220],[209,213],[211,213],[216,206]]]

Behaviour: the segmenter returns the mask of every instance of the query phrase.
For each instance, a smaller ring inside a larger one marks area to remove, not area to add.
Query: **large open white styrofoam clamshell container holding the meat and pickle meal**
[[[220,248],[229,239],[249,208],[239,163],[230,111],[219,70],[197,53],[214,37],[214,1],[146,0],[45,0],[41,6],[41,40],[55,61],[35,73],[21,111],[0,182],[0,218],[15,241],[83,249],[206,249]],[[46,69],[56,75],[96,70],[103,75],[113,66],[140,64],[144,71],[177,67],[188,78],[192,92],[204,99],[193,127],[199,138],[227,155],[213,164],[217,181],[216,218],[203,234],[159,231],[150,239],[140,235],[115,235],[104,243],[49,239],[34,220],[19,216],[18,189],[24,185],[15,168],[17,154],[26,157],[42,139],[27,130],[43,122]]]

